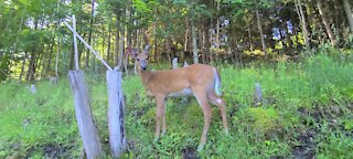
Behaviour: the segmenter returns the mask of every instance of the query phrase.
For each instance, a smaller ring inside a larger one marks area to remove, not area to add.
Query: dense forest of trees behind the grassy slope
[[[296,57],[303,50],[352,47],[349,0],[1,0],[0,81],[36,81],[74,66],[77,32],[110,65],[149,43],[152,62],[246,63]],[[103,65],[78,43],[79,65]]]

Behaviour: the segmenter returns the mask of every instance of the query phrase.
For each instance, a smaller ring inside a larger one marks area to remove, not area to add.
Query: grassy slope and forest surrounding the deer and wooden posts
[[[66,73],[77,32],[126,74],[124,158],[353,158],[351,0],[0,0],[0,158],[83,158]],[[229,136],[213,107],[197,152],[197,102],[170,99],[153,142],[156,103],[125,49],[150,47],[151,70],[174,56],[216,66]],[[109,153],[106,67],[78,42],[94,120]],[[57,60],[57,63],[56,63]],[[125,63],[127,61],[128,63]],[[56,73],[57,71],[57,73]],[[128,72],[127,72],[128,71]],[[57,84],[47,81],[58,74]],[[254,102],[255,84],[263,103]],[[36,94],[26,87],[35,84]],[[107,156],[109,157],[109,156]]]

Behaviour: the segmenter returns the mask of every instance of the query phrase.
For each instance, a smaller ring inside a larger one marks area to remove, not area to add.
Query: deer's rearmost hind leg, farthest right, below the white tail
[[[220,108],[224,131],[227,135],[228,134],[228,126],[227,126],[227,117],[226,117],[226,113],[225,113],[226,106],[225,106],[224,100],[221,97],[218,97],[213,91],[208,93],[208,99],[212,104],[216,105]]]

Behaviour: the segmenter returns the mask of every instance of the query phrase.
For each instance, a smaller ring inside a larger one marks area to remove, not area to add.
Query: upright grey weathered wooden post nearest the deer
[[[125,97],[121,89],[122,73],[107,71],[108,87],[108,128],[109,145],[113,158],[119,158],[125,149],[124,107]]]

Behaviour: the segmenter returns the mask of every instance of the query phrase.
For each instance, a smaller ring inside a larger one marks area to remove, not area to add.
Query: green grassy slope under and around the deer
[[[353,157],[352,60],[315,55],[301,63],[217,66],[227,105],[229,135],[213,107],[207,142],[196,152],[203,128],[202,110],[169,99],[167,134],[154,142],[156,103],[148,98],[138,76],[124,80],[125,158],[315,158]],[[157,68],[159,70],[159,68]],[[107,89],[105,75],[87,74],[92,107],[100,140],[108,153]],[[255,83],[260,83],[264,105],[254,106]],[[0,85],[0,158],[78,158],[78,135],[67,78],[58,85]]]

